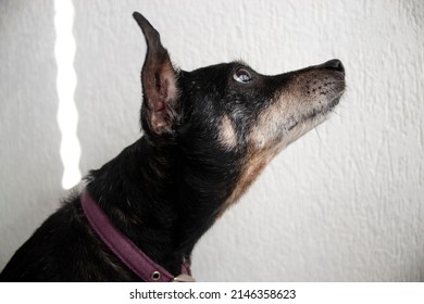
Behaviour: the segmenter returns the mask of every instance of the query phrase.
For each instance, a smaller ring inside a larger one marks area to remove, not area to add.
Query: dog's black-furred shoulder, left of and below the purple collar
[[[112,266],[112,267],[111,267]],[[73,193],[16,251],[0,281],[127,281],[133,274],[89,226]]]

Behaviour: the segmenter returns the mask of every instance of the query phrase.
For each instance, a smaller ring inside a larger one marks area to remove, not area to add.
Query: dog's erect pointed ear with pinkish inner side
[[[147,54],[141,69],[144,91],[141,122],[146,119],[150,131],[161,135],[170,130],[175,119],[178,98],[177,73],[161,43],[158,30],[141,14],[134,12],[133,16],[147,42]]]

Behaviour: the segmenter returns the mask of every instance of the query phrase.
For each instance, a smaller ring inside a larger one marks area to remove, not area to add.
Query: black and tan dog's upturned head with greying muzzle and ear
[[[177,142],[199,167],[226,175],[224,182],[233,183],[227,204],[279,151],[322,123],[345,90],[338,60],[276,76],[242,62],[176,69],[158,31],[142,15],[134,17],[148,45],[141,71],[145,134],[152,142]]]

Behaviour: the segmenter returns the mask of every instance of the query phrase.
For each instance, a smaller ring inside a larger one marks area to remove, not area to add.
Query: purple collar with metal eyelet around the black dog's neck
[[[85,215],[91,227],[110,250],[138,277],[146,282],[187,282],[191,278],[190,265],[182,266],[182,275],[174,277],[166,269],[155,264],[125,235],[117,230],[87,190],[80,197]]]

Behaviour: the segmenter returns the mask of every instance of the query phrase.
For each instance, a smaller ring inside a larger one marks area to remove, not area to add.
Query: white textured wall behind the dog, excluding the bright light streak
[[[339,58],[348,90],[200,241],[200,281],[424,280],[424,2],[74,0],[80,169],[138,136],[144,13],[185,69]],[[52,1],[0,2],[0,268],[58,207]]]

